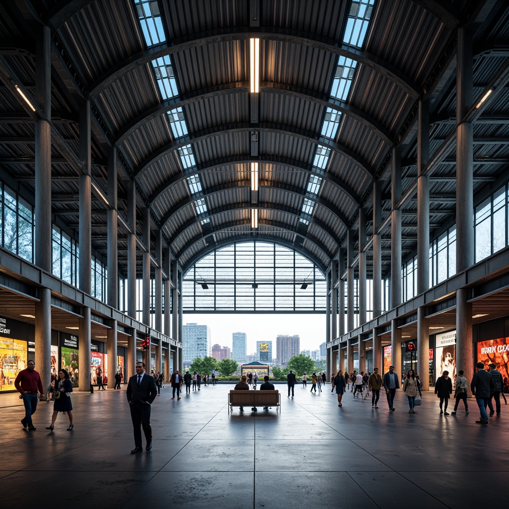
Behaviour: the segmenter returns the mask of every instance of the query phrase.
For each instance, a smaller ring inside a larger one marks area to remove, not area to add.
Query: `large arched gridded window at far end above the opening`
[[[184,275],[184,312],[325,313],[324,274],[294,249],[242,242],[208,254]]]

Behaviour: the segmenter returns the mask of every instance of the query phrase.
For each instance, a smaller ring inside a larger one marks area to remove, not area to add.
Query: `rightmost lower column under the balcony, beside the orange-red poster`
[[[472,303],[467,302],[468,298],[468,289],[460,288],[456,291],[456,372],[463,370],[463,376],[470,382],[475,370],[472,344]],[[471,396],[470,383],[468,383],[467,397]]]

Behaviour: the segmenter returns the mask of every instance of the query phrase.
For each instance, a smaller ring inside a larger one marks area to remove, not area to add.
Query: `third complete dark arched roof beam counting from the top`
[[[157,162],[159,159],[164,157],[166,154],[173,152],[181,147],[184,147],[188,144],[193,144],[200,142],[203,139],[210,138],[212,136],[220,136],[222,134],[232,134],[236,132],[274,132],[279,134],[285,134],[288,136],[295,136],[300,139],[304,139],[309,143],[317,143],[319,145],[323,145],[338,154],[341,154],[348,159],[350,159],[353,163],[355,163],[361,170],[364,172],[366,177],[371,180],[374,178],[374,168],[365,161],[359,154],[354,152],[353,150],[341,145],[339,143],[334,142],[331,139],[325,138],[324,136],[317,136],[316,133],[312,131],[306,131],[304,129],[298,129],[293,126],[285,126],[281,124],[275,124],[271,122],[263,122],[253,126],[249,122],[239,122],[236,124],[226,124],[222,126],[215,126],[210,129],[204,129],[202,131],[195,132],[193,134],[189,134],[187,136],[183,136],[170,142],[159,149],[155,150],[149,157],[147,157],[144,161],[142,161],[139,166],[134,171],[134,178],[142,175],[147,169]]]

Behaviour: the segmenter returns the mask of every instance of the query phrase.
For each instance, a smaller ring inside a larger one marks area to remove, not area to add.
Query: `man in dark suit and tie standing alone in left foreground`
[[[145,363],[136,362],[136,375],[129,378],[127,385],[127,401],[131,410],[132,426],[134,429],[134,449],[131,454],[141,453],[142,430],[147,440],[147,450],[152,448],[152,428],[150,427],[150,405],[157,396],[157,387],[154,377],[145,373]]]

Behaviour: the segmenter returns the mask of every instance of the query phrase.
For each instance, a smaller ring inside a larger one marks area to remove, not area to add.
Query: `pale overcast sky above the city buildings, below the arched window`
[[[325,314],[320,315],[226,315],[184,313],[184,325],[197,323],[208,325],[212,334],[212,345],[232,348],[232,333],[247,334],[247,355],[256,351],[257,341],[272,341],[272,352],[276,348],[278,334],[298,334],[301,350],[318,350],[325,341]],[[272,354],[274,355],[274,353]]]

